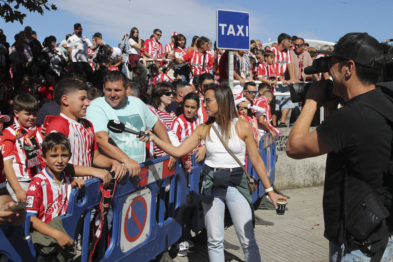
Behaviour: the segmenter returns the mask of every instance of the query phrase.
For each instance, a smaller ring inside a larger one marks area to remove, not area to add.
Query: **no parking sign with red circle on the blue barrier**
[[[150,231],[151,191],[144,188],[127,196],[121,213],[120,247],[127,252],[141,244]]]

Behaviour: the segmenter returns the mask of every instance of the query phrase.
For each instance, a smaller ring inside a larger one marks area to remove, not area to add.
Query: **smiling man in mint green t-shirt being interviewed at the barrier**
[[[160,139],[171,143],[167,130],[139,98],[127,96],[130,86],[122,72],[108,72],[104,82],[104,97],[98,97],[90,103],[85,118],[93,124],[95,139],[101,151],[124,163],[130,177],[136,176],[140,174],[139,163],[145,161],[145,143],[134,134],[109,131],[108,121],[119,120],[125,127],[138,132],[152,129]]]

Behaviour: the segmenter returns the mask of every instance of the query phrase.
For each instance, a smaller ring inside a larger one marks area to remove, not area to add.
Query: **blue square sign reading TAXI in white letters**
[[[217,9],[217,48],[250,50],[250,13]]]

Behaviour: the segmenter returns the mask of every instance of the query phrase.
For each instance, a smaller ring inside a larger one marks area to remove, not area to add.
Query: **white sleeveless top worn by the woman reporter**
[[[242,165],[245,165],[246,143],[237,136],[235,131],[235,123],[239,118],[235,118],[231,125],[231,135],[228,140],[228,148],[240,160]],[[221,134],[220,127],[217,123],[213,123],[217,131]],[[205,164],[213,168],[236,168],[239,164],[235,159],[226,151],[225,147],[220,142],[219,137],[210,128],[210,138],[206,137],[206,159]]]

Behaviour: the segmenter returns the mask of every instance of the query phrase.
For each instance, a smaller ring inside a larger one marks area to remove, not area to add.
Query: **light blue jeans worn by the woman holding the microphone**
[[[246,198],[235,187],[215,187],[212,203],[202,203],[205,227],[208,232],[209,260],[224,262],[224,210],[225,203],[231,214],[237,238],[246,261],[261,261],[252,226],[251,208]]]

